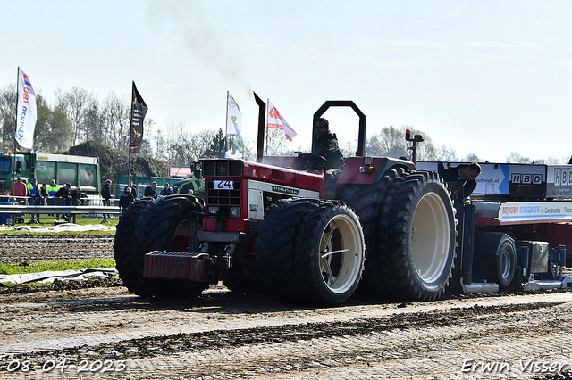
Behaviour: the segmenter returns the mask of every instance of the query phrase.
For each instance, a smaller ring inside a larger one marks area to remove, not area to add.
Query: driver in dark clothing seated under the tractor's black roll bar
[[[330,132],[330,123],[324,118],[315,121],[315,144],[312,146],[312,153],[324,157],[327,161],[325,165],[324,198],[333,196],[336,181],[340,176],[346,161],[338,146],[338,137]]]

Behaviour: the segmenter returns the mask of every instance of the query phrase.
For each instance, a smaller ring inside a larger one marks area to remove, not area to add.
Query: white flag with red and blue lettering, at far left
[[[36,83],[18,69],[18,112],[16,113],[16,141],[22,148],[31,149],[34,145],[36,127]]]

